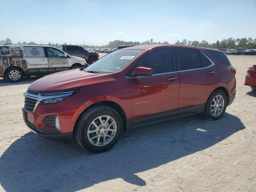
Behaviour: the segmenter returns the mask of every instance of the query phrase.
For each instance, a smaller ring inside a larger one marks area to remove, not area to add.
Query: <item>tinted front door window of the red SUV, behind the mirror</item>
[[[134,67],[148,67],[153,74],[173,72],[171,49],[154,50],[139,60]]]

